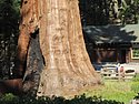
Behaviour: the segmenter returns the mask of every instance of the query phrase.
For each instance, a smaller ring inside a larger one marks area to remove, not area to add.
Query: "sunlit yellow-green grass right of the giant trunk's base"
[[[135,83],[133,81],[105,81],[103,85],[96,86],[93,90],[88,90],[86,95],[97,95],[106,100],[116,100],[125,104],[130,104],[130,101],[137,94],[138,87],[136,87],[136,92],[135,89],[132,89]]]

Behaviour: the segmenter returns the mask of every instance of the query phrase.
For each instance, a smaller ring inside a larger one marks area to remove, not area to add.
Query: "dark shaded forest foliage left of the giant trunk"
[[[0,0],[0,79],[10,79],[19,34],[20,0]]]

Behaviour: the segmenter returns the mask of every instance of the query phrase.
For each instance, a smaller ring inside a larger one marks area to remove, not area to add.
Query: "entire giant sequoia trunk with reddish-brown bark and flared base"
[[[69,95],[98,84],[86,51],[78,0],[22,0],[18,43],[24,91]]]

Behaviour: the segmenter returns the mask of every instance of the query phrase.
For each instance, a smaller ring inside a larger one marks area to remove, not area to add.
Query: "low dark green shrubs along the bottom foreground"
[[[67,100],[62,96],[38,97],[31,95],[14,96],[6,94],[0,97],[0,104],[123,104],[121,102],[103,100],[101,97],[86,97],[85,94]]]

